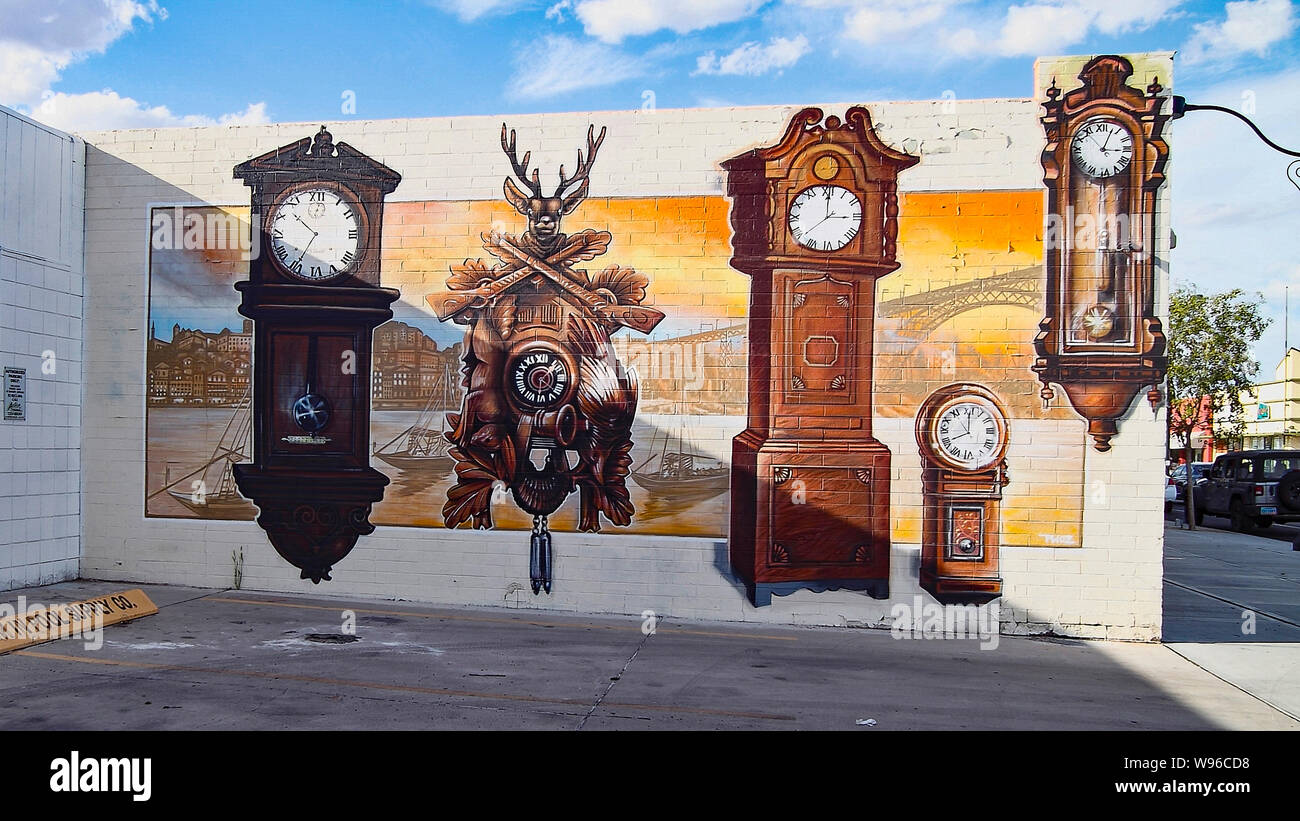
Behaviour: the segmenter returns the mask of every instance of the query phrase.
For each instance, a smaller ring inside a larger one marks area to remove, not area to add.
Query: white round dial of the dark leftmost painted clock
[[[356,261],[361,226],[359,207],[329,188],[307,188],[285,197],[266,226],[270,252],[290,274],[329,279]]]

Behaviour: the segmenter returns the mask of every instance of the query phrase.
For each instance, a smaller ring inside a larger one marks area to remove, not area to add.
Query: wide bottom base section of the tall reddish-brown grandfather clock
[[[889,460],[875,439],[736,436],[731,565],[755,607],[796,590],[889,598]]]

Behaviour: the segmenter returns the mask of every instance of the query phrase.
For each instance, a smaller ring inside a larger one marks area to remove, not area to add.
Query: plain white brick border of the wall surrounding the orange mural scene
[[[838,113],[845,104],[827,105]],[[1032,100],[880,103],[870,110],[881,136],[923,161],[905,191],[1037,190],[1043,134]],[[571,162],[588,122],[607,125],[601,196],[720,194],[718,161],[779,136],[798,107],[601,112],[328,123],[335,140],[403,174],[393,201],[497,199],[502,120],[520,133],[534,162]],[[716,539],[555,534],[552,596],[512,592],[526,583],[526,534],[380,527],[364,537],[321,588],[298,579],[252,522],[146,520],[143,516],[147,234],[151,203],[248,203],[231,168],[315,133],[320,123],[169,129],[87,134],[87,426],[84,564],[90,578],[225,587],[231,552],[246,559],[243,585],[454,604],[545,607],[742,621],[885,625],[894,603],[919,595],[915,544],[893,548],[892,601],[854,592],[798,592],[754,608],[728,579]],[[541,136],[542,134],[546,136]],[[578,142],[576,142],[578,140]],[[1167,203],[1166,203],[1167,207]],[[1167,213],[1167,208],[1164,213]],[[1166,225],[1167,230],[1167,225]],[[910,420],[875,420],[896,453],[894,492],[919,496]],[[1109,486],[1106,504],[1087,503],[1082,548],[1004,548],[1004,629],[1150,639],[1160,630],[1161,418],[1130,413],[1098,455],[1083,443],[1072,459]],[[909,440],[910,444],[909,444]],[[1026,451],[1028,453],[1030,451]],[[1032,456],[1023,456],[1030,459]],[[1067,459],[1070,459],[1067,456]],[[910,470],[910,473],[907,473]],[[1122,501],[1117,501],[1122,500]],[[1150,522],[1150,524],[1148,524]]]

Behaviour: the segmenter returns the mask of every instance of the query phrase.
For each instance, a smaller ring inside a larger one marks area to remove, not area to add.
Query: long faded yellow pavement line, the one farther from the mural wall
[[[590,707],[589,701],[580,699],[540,699],[532,695],[515,695],[508,692],[481,692],[474,690],[445,690],[441,687],[419,687],[415,685],[390,685],[381,682],[354,681],[348,678],[321,678],[317,676],[294,676],[290,673],[263,673],[260,670],[230,670],[224,668],[204,668],[188,664],[153,664],[151,661],[125,661],[118,659],[90,659],[84,656],[65,656],[62,653],[47,653],[36,650],[20,650],[14,656],[30,656],[32,659],[48,659],[52,661],[74,661],[78,664],[104,664],[109,666],[135,668],[143,670],[172,670],[178,673],[203,673],[208,676],[239,676],[243,678],[264,678],[269,681],[298,681],[315,685],[333,685],[337,687],[361,687],[365,690],[391,690],[395,692],[419,692],[421,695],[442,695],[467,699],[486,699],[489,701],[525,701],[529,704],[563,704],[566,707]],[[662,704],[632,704],[624,701],[602,701],[601,707],[621,707],[625,709],[647,709],[668,713],[696,713],[701,716],[728,716],[733,718],[762,718],[767,721],[794,721],[794,716],[777,716],[772,713],[749,713],[727,709],[708,709],[705,707],[671,707]]]

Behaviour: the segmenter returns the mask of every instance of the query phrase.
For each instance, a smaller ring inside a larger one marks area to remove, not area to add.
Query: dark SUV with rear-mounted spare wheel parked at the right
[[[1300,451],[1236,451],[1214,460],[1196,485],[1196,524],[1227,516],[1232,530],[1300,521]]]

